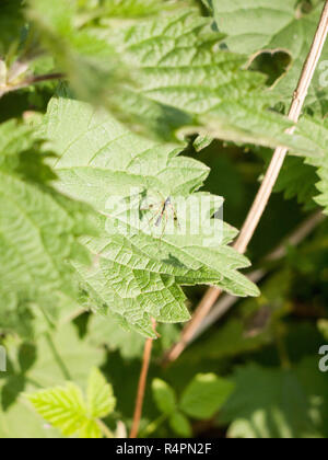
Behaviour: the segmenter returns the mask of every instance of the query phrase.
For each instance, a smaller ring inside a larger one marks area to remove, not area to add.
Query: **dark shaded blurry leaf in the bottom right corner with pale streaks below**
[[[318,371],[318,358],[292,370],[247,365],[234,380],[236,390],[222,411],[230,437],[327,437],[327,375]]]

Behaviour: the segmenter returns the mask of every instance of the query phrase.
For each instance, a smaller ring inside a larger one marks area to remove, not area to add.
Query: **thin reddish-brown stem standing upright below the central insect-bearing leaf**
[[[152,320],[152,322],[153,322],[153,329],[155,330],[155,321]],[[144,400],[148,371],[149,371],[149,366],[150,366],[150,359],[151,359],[151,356],[152,356],[152,347],[153,347],[153,340],[148,338],[147,342],[145,342],[144,352],[143,352],[142,367],[141,367],[141,372],[140,372],[138,393],[137,393],[137,400],[136,400],[136,406],[134,406],[133,423],[132,423],[132,428],[131,428],[131,433],[130,433],[130,438],[131,439],[137,438],[138,433],[139,433],[139,426],[140,426],[141,415],[142,415],[142,407],[143,407],[143,400]]]

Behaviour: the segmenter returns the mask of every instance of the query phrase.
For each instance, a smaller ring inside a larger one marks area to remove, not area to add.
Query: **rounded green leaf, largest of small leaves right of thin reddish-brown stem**
[[[198,373],[184,391],[179,409],[190,417],[211,418],[233,392],[234,384],[214,373]]]

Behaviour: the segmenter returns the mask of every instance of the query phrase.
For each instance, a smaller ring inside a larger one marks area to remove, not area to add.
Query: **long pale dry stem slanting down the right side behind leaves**
[[[328,34],[328,0],[325,2],[324,11],[309,50],[307,59],[304,64],[301,78],[293,95],[293,101],[289,112],[289,118],[295,124],[298,122],[304,101],[306,99],[309,84],[314,77],[317,64],[323,53],[323,48]],[[293,135],[296,126],[288,129],[288,134]],[[248,244],[257,230],[259,221],[268,205],[269,198],[272,194],[273,187],[278,180],[279,173],[288,154],[288,148],[278,147],[273,153],[268,171],[265,175],[263,182],[254,200],[254,204],[248,212],[245,223],[241,230],[239,237],[234,243],[234,249],[241,254],[247,251]],[[184,352],[186,344],[192,337],[199,324],[211,311],[213,304],[222,294],[222,290],[216,287],[211,287],[206,292],[203,299],[196,309],[191,321],[186,325],[181,333],[180,341],[173,346],[166,356],[167,361],[174,361]]]

